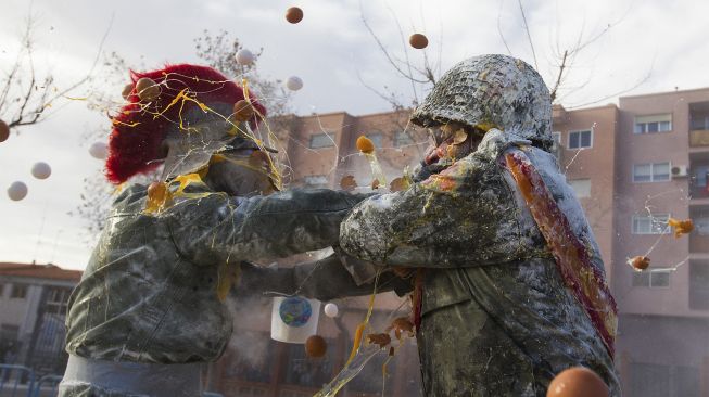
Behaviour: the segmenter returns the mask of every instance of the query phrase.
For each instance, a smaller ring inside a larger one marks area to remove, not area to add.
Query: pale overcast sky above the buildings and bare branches
[[[580,35],[583,40],[595,37],[610,24],[610,29],[588,46],[571,68],[566,86],[569,90],[561,92],[567,106],[617,102],[615,93],[644,80],[648,73],[649,78],[625,94],[709,86],[709,1],[522,3],[536,65],[549,86],[556,76],[557,49],[562,52],[573,47]],[[297,25],[283,18],[291,5],[304,10],[305,17]],[[149,68],[198,62],[193,39],[204,29],[226,29],[245,48],[264,49],[258,64],[262,75],[303,79],[303,89],[293,95],[292,106],[297,114],[385,112],[388,103],[362,81],[376,88],[390,87],[403,99],[412,97],[410,85],[387,63],[362,22],[363,12],[382,43],[397,57],[405,53],[396,20],[405,36],[422,33],[429,37],[427,54],[440,62],[442,71],[484,53],[511,52],[535,64],[519,5],[510,0],[36,0],[31,9],[28,1],[3,0],[0,72],[4,75],[11,67],[30,13],[36,23],[38,69],[43,73],[51,68],[59,88],[90,71],[112,18],[103,52],[116,51],[129,64]],[[408,56],[419,64],[422,51],[409,48]],[[121,87],[112,89],[119,100]],[[87,90],[80,88],[72,97],[85,97]],[[86,243],[84,220],[68,213],[80,202],[83,179],[103,166],[88,154],[92,142],[86,140],[87,131],[105,126],[107,120],[101,112],[88,110],[84,101],[61,99],[50,110],[54,113],[47,121],[14,131],[0,143],[0,261],[51,261],[80,269],[92,247]],[[47,180],[30,175],[33,164],[39,161],[53,169]],[[29,194],[21,202],[12,202],[5,194],[16,180],[29,187]]]

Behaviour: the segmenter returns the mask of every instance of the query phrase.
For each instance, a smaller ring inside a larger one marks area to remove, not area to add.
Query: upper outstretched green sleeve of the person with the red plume
[[[337,245],[340,222],[366,196],[327,189],[250,198],[215,193],[162,217],[180,255],[195,265],[270,260]]]

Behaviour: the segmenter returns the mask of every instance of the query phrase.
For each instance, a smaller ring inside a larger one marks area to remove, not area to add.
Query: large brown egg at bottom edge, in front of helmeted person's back
[[[608,397],[608,386],[592,370],[573,367],[554,377],[546,397]]]

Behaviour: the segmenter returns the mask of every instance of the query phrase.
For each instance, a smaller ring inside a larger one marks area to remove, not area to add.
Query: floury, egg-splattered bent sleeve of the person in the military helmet
[[[380,265],[484,266],[521,255],[518,212],[502,165],[473,153],[406,191],[359,203],[340,244]]]

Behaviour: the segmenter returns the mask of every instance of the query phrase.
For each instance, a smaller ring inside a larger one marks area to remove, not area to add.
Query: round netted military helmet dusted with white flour
[[[521,60],[480,55],[446,72],[412,115],[422,127],[461,123],[497,128],[552,148],[552,100],[542,76]]]

